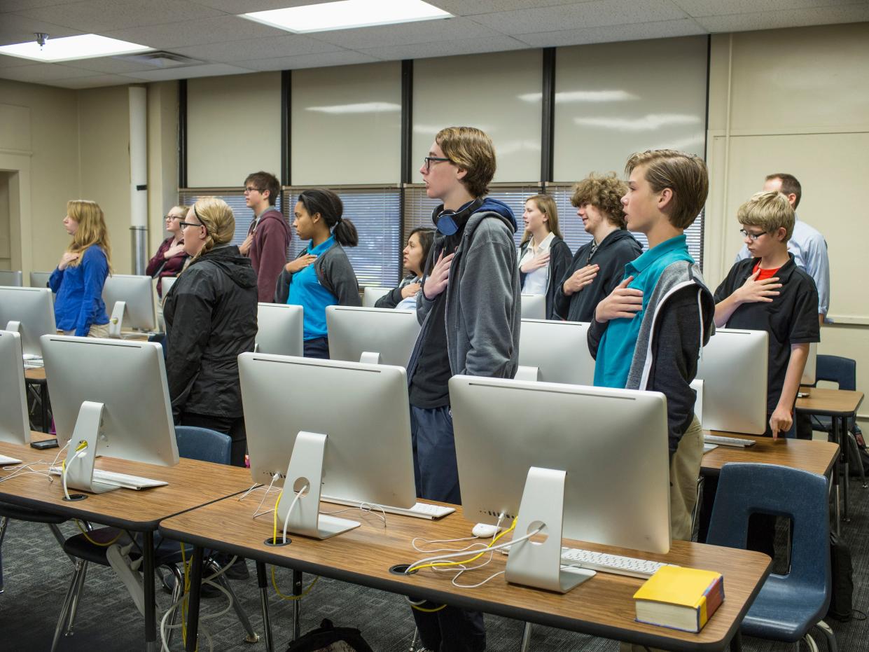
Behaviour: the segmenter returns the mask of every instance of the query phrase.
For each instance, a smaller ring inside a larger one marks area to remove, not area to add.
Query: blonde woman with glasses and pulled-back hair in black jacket
[[[237,357],[254,350],[256,273],[229,244],[235,217],[222,199],[202,197],[182,222],[190,263],[169,289],[166,376],[176,425],[232,437],[232,463],[244,466],[247,438]]]

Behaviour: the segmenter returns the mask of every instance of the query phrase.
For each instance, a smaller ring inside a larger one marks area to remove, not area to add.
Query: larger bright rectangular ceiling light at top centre
[[[374,3],[371,0],[342,0],[242,14],[242,18],[297,34],[451,17],[453,15],[447,11],[422,0],[377,0]]]

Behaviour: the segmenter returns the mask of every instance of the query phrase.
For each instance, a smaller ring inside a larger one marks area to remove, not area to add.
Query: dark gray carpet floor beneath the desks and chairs
[[[843,529],[850,546],[854,565],[854,607],[869,607],[869,489],[861,489],[852,481],[852,518]],[[74,523],[62,526],[65,535],[78,532]],[[251,579],[233,581],[232,586],[254,628],[262,634],[259,595],[256,591],[254,564],[249,562]],[[48,650],[56,618],[67,589],[72,566],[63,555],[47,526],[10,522],[3,543],[4,592],[0,595],[0,650]],[[311,578],[306,576],[305,582]],[[278,569],[278,586],[289,592],[289,571]],[[286,649],[292,635],[291,603],[270,593],[270,610],[275,632],[275,649]],[[158,609],[169,606],[169,595],[157,590]],[[203,601],[203,615],[225,608],[225,599]],[[319,625],[328,617],[338,625],[362,629],[369,645],[376,652],[408,652],[414,635],[413,618],[401,596],[375,589],[365,589],[343,582],[322,578],[302,600],[302,632]],[[839,650],[869,650],[866,622],[828,621],[836,632]],[[488,650],[514,652],[520,647],[522,623],[496,616],[486,616]],[[205,623],[215,650],[265,649],[262,641],[243,642],[241,625],[232,611]],[[129,594],[110,569],[92,566],[84,591],[83,603],[76,618],[73,635],[62,640],[59,649],[75,650],[138,650],[143,649],[143,618],[136,611]],[[826,649],[823,635],[815,635],[819,649]],[[744,648],[757,652],[793,649],[783,643],[745,638]],[[182,649],[176,637],[171,649]],[[200,650],[208,649],[201,642]],[[594,638],[545,627],[534,627],[531,642],[534,652],[552,650],[616,650],[613,641]],[[805,646],[802,649],[806,649]]]

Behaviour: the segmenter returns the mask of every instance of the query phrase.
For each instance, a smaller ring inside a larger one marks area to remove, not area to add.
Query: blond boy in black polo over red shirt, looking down
[[[734,264],[715,290],[715,325],[769,333],[766,436],[774,439],[792,430],[809,343],[820,341],[818,290],[787,251],[794,216],[786,196],[759,192],[737,219],[752,257]]]

